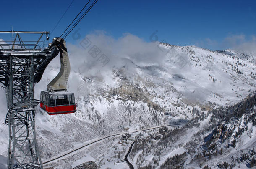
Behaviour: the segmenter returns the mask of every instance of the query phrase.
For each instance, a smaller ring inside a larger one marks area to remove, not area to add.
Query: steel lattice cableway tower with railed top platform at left
[[[5,88],[8,108],[5,119],[9,126],[8,168],[42,169],[34,119],[35,106],[40,101],[34,99],[34,83],[40,81],[59,49],[57,45],[50,49],[38,46],[44,42],[42,36],[49,32],[0,33],[15,34],[14,40],[0,43],[0,87]],[[40,37],[35,41],[22,41],[20,34],[39,34]]]

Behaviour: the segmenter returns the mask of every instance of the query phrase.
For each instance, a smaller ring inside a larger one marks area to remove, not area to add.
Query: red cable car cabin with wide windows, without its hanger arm
[[[74,113],[76,111],[73,93],[41,91],[40,99],[40,107],[49,115]]]

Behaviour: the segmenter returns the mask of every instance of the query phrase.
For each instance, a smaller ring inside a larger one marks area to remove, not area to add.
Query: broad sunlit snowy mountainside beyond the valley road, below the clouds
[[[90,65],[96,61],[86,50],[72,45],[69,49],[69,91],[75,93],[77,111],[48,116],[37,108],[36,131],[42,161],[125,128],[190,120],[213,108],[238,103],[256,90],[254,53],[146,44],[133,52],[108,53],[109,57],[115,56],[110,57],[111,63],[94,68]],[[72,60],[78,55],[85,57]],[[143,59],[145,55],[154,55],[155,59]],[[35,98],[39,98],[40,91],[45,90],[58,70],[59,58],[55,58],[35,85]],[[193,108],[200,111],[192,111]],[[1,111],[0,154],[6,156],[6,107]],[[94,153],[92,158],[98,160],[100,156],[102,153]]]

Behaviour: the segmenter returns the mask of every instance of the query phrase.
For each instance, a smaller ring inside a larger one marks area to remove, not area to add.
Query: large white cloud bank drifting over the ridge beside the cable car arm
[[[104,78],[105,81],[110,81],[107,77],[111,76],[113,68],[121,68],[131,61],[140,66],[160,65],[164,62],[161,55],[163,56],[165,53],[159,50],[156,43],[145,42],[131,34],[124,34],[115,39],[104,32],[97,31],[87,35],[86,40],[91,42],[88,48],[83,48],[80,44],[68,44],[68,52],[71,69],[87,78],[97,76]],[[83,40],[81,41],[83,42]],[[94,45],[100,50],[97,56],[89,54]],[[102,54],[109,59],[104,66],[100,58]],[[135,70],[129,71],[132,74]],[[111,84],[111,82],[109,83]]]

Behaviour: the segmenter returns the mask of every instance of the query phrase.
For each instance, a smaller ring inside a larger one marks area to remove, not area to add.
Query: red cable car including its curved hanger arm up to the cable
[[[75,96],[67,92],[70,63],[63,38],[54,38],[53,43],[49,44],[51,51],[54,52],[56,48],[60,52],[60,72],[47,85],[47,91],[41,91],[40,108],[49,115],[74,113],[76,111]]]

